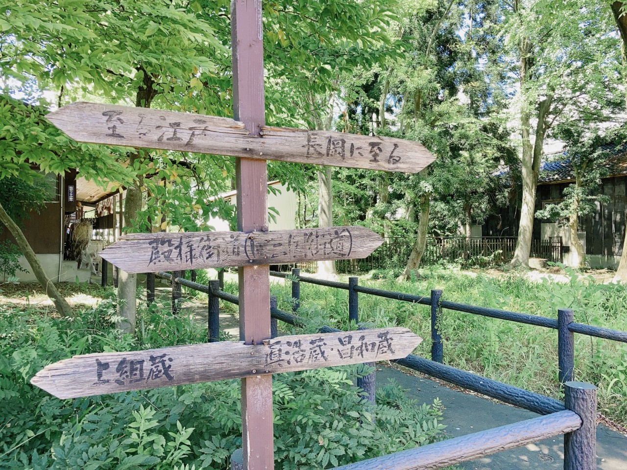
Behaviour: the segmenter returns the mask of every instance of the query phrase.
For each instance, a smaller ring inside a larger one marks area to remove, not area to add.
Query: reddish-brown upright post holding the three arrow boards
[[[233,117],[251,135],[265,124],[261,0],[231,1]],[[265,160],[236,159],[237,219],[241,232],[268,230],[268,177]],[[270,338],[270,266],[238,269],[240,340]],[[274,470],[272,376],[241,380],[244,470]]]

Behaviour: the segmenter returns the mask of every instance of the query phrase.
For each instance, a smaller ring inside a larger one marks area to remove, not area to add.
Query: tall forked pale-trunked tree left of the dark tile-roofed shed
[[[514,259],[529,267],[535,193],[545,137],[561,122],[606,120],[616,107],[619,63],[613,25],[599,1],[515,0],[503,9],[512,65],[519,79],[522,206]]]

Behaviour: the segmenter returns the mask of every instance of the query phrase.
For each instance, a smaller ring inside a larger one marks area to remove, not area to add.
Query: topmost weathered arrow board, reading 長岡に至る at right
[[[77,142],[181,150],[249,159],[418,173],[435,160],[419,142],[330,131],[261,127],[191,113],[72,103],[48,120]]]

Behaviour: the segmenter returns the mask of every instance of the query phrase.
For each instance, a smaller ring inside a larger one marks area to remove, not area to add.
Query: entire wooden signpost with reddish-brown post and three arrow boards
[[[125,235],[102,257],[129,273],[240,266],[240,343],[77,356],[31,382],[60,398],[241,379],[244,470],[273,470],[272,373],[405,357],[403,328],[270,340],[269,264],[361,258],[382,239],[363,227],[268,232],[266,159],[417,173],[435,157],[418,142],[265,125],[261,0],[231,0],[233,117],[73,103],[48,119],[78,142],[230,155],[237,232]]]

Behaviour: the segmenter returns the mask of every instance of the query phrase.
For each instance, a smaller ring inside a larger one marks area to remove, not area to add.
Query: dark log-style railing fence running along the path
[[[290,274],[277,273],[275,271],[271,271],[270,275],[279,278],[290,276]],[[218,341],[219,300],[238,305],[238,297],[221,290],[220,282],[217,280],[209,281],[209,285],[204,286],[187,281],[187,279],[177,276],[177,273],[157,273],[157,276],[169,279],[172,283],[173,311],[178,311],[177,304],[180,298],[179,294],[177,294],[178,297],[174,294],[176,285],[179,286],[179,292],[180,286],[186,286],[208,295],[208,340],[209,342]],[[524,313],[442,300],[441,290],[432,290],[429,296],[411,295],[359,286],[356,277],[349,278],[349,283],[300,277],[298,269],[292,270],[290,278],[292,282],[292,298],[295,300],[293,305],[294,311],[298,310],[300,305],[300,283],[310,283],[348,291],[349,320],[356,323],[359,321],[359,293],[430,306],[431,360],[410,354],[405,358],[393,360],[393,362],[458,387],[463,387],[464,389],[472,390],[473,392],[487,395],[507,404],[542,415],[519,423],[456,437],[408,451],[396,452],[389,456],[376,457],[375,459],[337,467],[337,469],[366,470],[372,466],[393,470],[436,469],[469,461],[478,456],[524,446],[540,439],[561,434],[565,435],[564,469],[596,469],[596,387],[591,384],[572,381],[574,367],[573,334],[580,333],[627,343],[627,332],[577,323],[573,320],[572,310],[559,310],[558,318],[555,320],[554,318],[539,315],[526,315]],[[152,294],[149,293],[147,298],[154,299],[154,282],[152,283]],[[536,394],[513,385],[503,384],[502,382],[487,379],[486,377],[441,363],[443,360],[443,345],[440,331],[438,330],[438,318],[442,315],[443,309],[557,330],[559,380],[564,387],[565,401],[561,402],[545,395]],[[278,310],[275,296],[270,298],[270,315],[271,338],[277,337],[278,320],[294,326],[305,326],[306,324],[305,320],[294,315],[294,313]],[[330,326],[322,326],[319,331],[321,333],[330,333],[340,332],[341,330]],[[357,386],[364,390],[366,397],[374,400],[374,372],[370,376],[360,379],[357,382]]]

